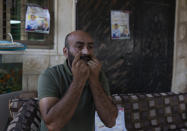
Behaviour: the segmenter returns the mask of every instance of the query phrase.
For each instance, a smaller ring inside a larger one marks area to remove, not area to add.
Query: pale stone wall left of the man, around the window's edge
[[[23,62],[23,90],[36,90],[39,74],[49,66],[64,62],[65,35],[75,29],[73,0],[55,0],[55,46],[52,50],[27,49],[24,52],[3,52],[2,62]],[[62,24],[63,23],[63,24]]]

